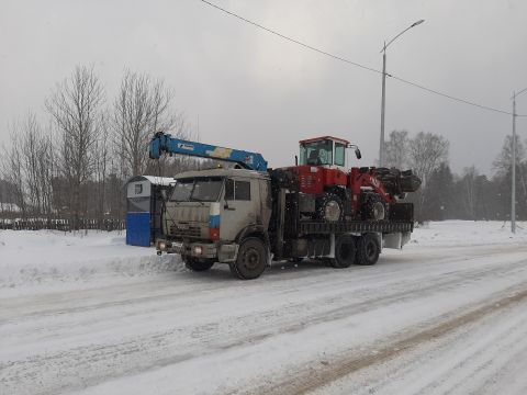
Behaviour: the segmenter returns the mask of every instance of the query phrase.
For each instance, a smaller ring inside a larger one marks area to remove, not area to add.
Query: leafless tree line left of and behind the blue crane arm
[[[200,167],[190,158],[148,158],[157,131],[197,138],[173,97],[162,79],[125,70],[116,95],[109,98],[93,67],[77,66],[45,98],[45,120],[29,111],[8,125],[0,215],[66,218],[74,228],[88,218],[122,219],[127,179]]]

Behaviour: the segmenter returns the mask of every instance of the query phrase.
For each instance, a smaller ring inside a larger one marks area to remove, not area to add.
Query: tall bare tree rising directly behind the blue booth
[[[113,111],[114,142],[124,177],[143,174],[154,133],[177,126],[179,119],[170,112],[172,97],[172,90],[162,80],[125,71]]]

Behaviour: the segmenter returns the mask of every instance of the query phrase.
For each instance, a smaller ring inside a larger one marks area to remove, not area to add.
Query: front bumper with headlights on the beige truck
[[[157,255],[179,253],[187,257],[217,259],[218,262],[233,262],[238,255],[237,244],[218,242],[184,242],[158,239],[156,241]]]

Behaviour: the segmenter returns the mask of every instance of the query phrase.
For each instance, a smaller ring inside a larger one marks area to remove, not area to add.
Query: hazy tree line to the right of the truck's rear
[[[393,131],[386,142],[386,166],[413,169],[422,187],[407,201],[415,205],[415,218],[423,221],[511,221],[513,138],[506,136],[493,162],[494,174],[480,173],[475,166],[460,174],[449,166],[449,142],[439,135]],[[527,219],[527,156],[516,140],[516,219]]]

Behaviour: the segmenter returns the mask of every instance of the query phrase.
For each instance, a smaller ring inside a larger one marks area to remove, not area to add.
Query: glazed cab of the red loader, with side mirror
[[[347,169],[346,148],[355,148],[356,156],[360,159],[359,148],[343,138],[324,136],[301,140],[299,165]]]

